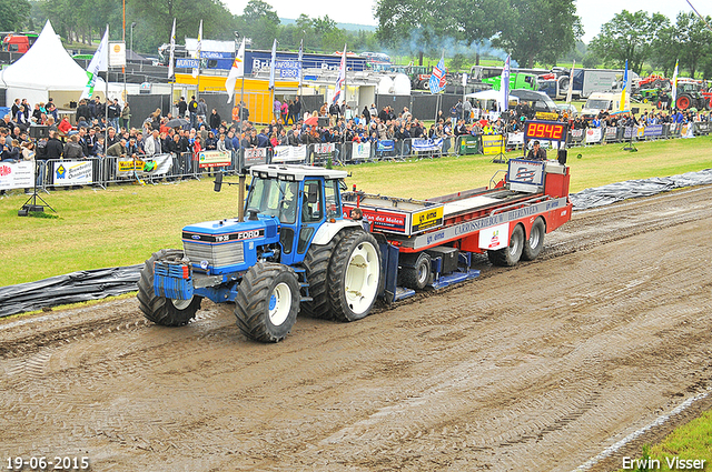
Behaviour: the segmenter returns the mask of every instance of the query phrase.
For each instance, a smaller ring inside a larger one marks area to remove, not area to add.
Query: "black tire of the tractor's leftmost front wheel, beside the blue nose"
[[[154,263],[160,260],[180,260],[184,252],[179,249],[161,249],[144,263],[138,281],[138,305],[144,315],[156,324],[164,327],[182,327],[196,317],[202,297],[195,295],[190,300],[172,300],[158,297],[154,292]]]

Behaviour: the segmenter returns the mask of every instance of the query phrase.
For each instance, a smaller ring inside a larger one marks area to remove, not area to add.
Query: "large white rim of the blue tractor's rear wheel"
[[[348,308],[360,314],[368,310],[378,292],[378,253],[369,242],[362,242],[352,252],[346,267],[345,288]]]

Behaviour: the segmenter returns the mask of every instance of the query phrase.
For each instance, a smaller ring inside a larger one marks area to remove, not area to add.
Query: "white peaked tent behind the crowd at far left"
[[[70,100],[79,99],[88,77],[69,56],[48,20],[30,50],[2,70],[0,81],[7,88],[8,106],[16,98],[39,103],[52,97],[59,108],[68,108]],[[97,79],[95,91],[103,96],[105,88],[103,80]]]

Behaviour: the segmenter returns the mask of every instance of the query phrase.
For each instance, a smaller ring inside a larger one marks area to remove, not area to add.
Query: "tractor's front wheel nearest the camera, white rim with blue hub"
[[[299,282],[287,265],[258,262],[243,277],[235,298],[237,325],[247,338],[278,342],[299,311]]]

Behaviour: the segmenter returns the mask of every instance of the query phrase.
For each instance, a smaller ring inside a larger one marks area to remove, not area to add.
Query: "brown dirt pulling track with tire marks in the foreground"
[[[570,471],[709,388],[711,200],[705,187],[574,213],[537,261],[483,259],[478,280],[355,323],[298,319],[274,345],[209,302],[181,329],[146,323],[132,299],[0,322],[0,454],[87,455],[96,471]]]

